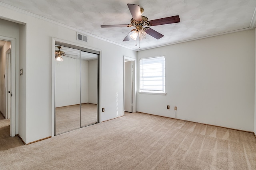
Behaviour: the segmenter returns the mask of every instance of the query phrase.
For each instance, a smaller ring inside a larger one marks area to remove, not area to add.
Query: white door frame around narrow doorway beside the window
[[[132,61],[132,113],[135,113],[137,111],[137,88],[136,88],[136,59],[132,57],[124,56],[123,58],[123,64],[125,64],[125,60]],[[125,66],[123,65],[123,116],[124,116],[124,70]]]

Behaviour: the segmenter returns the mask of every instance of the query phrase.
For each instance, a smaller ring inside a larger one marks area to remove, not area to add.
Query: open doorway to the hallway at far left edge
[[[16,39],[0,36],[0,111],[10,119],[10,136],[16,135]]]

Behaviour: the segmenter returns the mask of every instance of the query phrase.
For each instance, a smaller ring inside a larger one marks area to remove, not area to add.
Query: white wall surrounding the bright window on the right
[[[138,94],[138,111],[175,117],[178,106],[178,119],[254,130],[254,30],[139,51],[138,62],[160,55],[167,94]]]

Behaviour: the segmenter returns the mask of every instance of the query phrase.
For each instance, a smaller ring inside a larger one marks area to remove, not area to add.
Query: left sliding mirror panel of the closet
[[[63,61],[55,61],[56,135],[80,128],[80,51],[62,47]]]

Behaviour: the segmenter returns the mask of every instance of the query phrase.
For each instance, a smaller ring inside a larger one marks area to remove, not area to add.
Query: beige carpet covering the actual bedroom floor
[[[256,169],[252,133],[143,113],[126,113],[0,154],[1,170]]]

